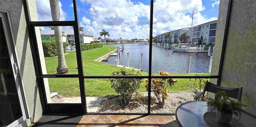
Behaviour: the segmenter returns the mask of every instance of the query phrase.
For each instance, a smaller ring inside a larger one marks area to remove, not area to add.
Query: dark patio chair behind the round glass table
[[[226,88],[226,87],[221,87],[221,86],[215,85],[208,81],[206,81],[206,83],[205,83],[204,91],[198,93],[194,97],[194,99],[197,101],[197,99],[202,95],[202,97],[201,97],[201,101],[202,101],[203,97],[204,97],[204,93],[206,91],[212,92],[212,93],[217,93],[219,90],[226,91],[228,97],[232,97],[232,98],[238,99],[238,101],[241,101],[243,87],[241,87],[241,88]]]

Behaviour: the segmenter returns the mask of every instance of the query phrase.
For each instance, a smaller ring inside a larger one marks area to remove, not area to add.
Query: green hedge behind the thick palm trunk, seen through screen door
[[[56,42],[43,40],[42,41],[44,57],[57,56]],[[66,42],[63,42],[64,53],[66,52]]]

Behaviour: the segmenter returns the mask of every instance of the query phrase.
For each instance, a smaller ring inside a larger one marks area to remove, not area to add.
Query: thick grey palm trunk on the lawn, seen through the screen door
[[[60,21],[60,8],[58,0],[50,0],[50,7],[52,12],[52,21]],[[58,54],[58,67],[57,73],[67,73],[68,66],[66,65],[63,42],[62,42],[62,29],[61,26],[54,26],[56,48]]]

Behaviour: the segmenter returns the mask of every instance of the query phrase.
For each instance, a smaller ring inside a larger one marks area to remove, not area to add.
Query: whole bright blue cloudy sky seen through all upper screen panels
[[[61,20],[74,20],[72,0],[59,5]],[[52,20],[49,0],[36,0],[36,6],[39,21]],[[79,25],[94,38],[102,29],[112,39],[149,38],[150,0],[78,0],[77,7]],[[219,0],[154,0],[153,36],[191,27],[193,10],[193,26],[217,20]]]

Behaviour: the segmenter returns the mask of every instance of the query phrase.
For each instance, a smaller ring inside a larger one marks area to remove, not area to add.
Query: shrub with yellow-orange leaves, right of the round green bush
[[[160,75],[170,75],[166,71],[159,71]],[[154,74],[152,74],[154,75]],[[158,99],[158,103],[160,107],[164,106],[164,100],[168,98],[168,89],[166,89],[168,86],[176,85],[176,80],[172,78],[155,78],[151,80],[151,91],[154,92],[156,95],[156,98]],[[148,88],[148,79],[146,80],[146,85],[145,85],[147,91],[149,90]]]

